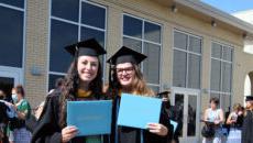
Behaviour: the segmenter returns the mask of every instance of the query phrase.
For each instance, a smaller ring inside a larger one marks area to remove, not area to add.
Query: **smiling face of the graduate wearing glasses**
[[[123,88],[130,87],[132,85],[135,77],[135,70],[131,63],[118,64],[116,72],[118,81]]]

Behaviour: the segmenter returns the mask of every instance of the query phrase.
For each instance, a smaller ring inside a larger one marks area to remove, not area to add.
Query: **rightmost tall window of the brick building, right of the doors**
[[[232,59],[233,48],[231,46],[212,43],[210,96],[220,99],[220,106],[224,111],[228,111],[231,103]]]

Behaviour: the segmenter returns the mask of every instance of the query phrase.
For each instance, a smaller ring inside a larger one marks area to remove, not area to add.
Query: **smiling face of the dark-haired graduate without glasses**
[[[98,74],[99,61],[96,56],[79,56],[77,72],[82,82],[91,82]]]

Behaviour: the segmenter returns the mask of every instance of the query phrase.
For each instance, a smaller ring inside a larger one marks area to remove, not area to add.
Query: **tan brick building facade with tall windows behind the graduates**
[[[63,77],[72,57],[64,46],[96,37],[107,57],[125,45],[147,55],[141,65],[155,92],[170,90],[182,108],[183,142],[200,140],[210,97],[228,111],[243,102],[253,56],[243,52],[253,26],[190,0],[0,0],[0,86],[22,84],[32,107]],[[253,88],[252,88],[253,89]]]

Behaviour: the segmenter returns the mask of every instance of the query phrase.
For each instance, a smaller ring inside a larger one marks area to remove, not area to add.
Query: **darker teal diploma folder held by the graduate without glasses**
[[[78,129],[77,136],[110,134],[111,100],[68,101],[67,125]]]

